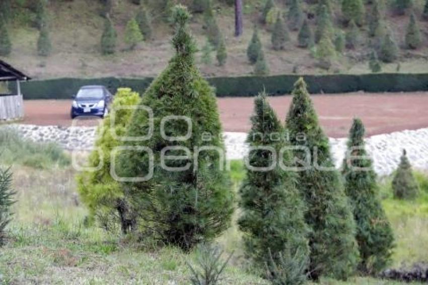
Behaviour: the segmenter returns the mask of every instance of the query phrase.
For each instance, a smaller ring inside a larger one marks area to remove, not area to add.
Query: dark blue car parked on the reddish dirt
[[[104,86],[83,86],[74,96],[72,119],[77,116],[99,116],[104,118],[108,114],[112,100],[111,93]]]

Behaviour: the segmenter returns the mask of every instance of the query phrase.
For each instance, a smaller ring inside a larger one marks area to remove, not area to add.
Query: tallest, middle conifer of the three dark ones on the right
[[[321,129],[302,78],[293,90],[286,127],[291,145],[306,148],[311,154],[309,160],[313,158],[311,165],[304,163],[305,170],[298,172],[298,187],[308,207],[306,223],[312,228],[310,277],[318,280],[322,275],[331,275],[346,279],[358,263],[355,222],[332,161],[328,137]],[[305,153],[298,151],[294,156],[304,162],[308,159]]]

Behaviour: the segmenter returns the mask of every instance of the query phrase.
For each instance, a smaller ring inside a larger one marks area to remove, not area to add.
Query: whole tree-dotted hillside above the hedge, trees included
[[[34,78],[156,76],[177,3],[205,76],[428,71],[425,0],[4,0],[0,56]]]

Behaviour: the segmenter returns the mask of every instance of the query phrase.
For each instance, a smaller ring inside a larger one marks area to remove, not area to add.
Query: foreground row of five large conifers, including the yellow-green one
[[[175,8],[172,43],[176,53],[144,96],[139,98],[129,89],[119,89],[113,103],[113,108],[139,106],[133,112],[119,109],[114,133],[144,137],[152,130],[152,135],[143,141],[119,141],[112,136],[112,118],[107,117],[98,130],[97,151],[90,158],[91,166],[103,160],[103,167],[97,172],[84,172],[78,179],[83,201],[104,228],[120,224],[123,233],[184,250],[211,241],[228,229],[235,201],[225,162],[218,154],[224,144],[216,98],[195,66],[196,45],[188,30],[189,17],[184,7]],[[153,119],[147,107],[153,111]],[[187,122],[162,122],[166,116],[190,118],[192,131],[187,139],[177,138],[187,133]],[[357,268],[375,273],[385,267],[390,261],[393,235],[378,197],[372,162],[353,162],[370,169],[365,172],[345,166],[341,175],[334,168],[328,138],[303,79],[295,85],[286,120],[291,141],[271,139],[269,134],[282,133],[284,126],[264,94],[255,100],[251,122],[248,143],[270,148],[249,155],[253,167],[272,165],[275,158],[271,150],[279,151],[290,144],[309,148],[318,164],[329,169],[295,172],[276,166],[264,172],[247,170],[239,190],[242,215],[238,224],[244,233],[246,255],[256,266],[269,269],[265,277],[296,284],[307,276],[314,280],[324,275],[346,279]],[[253,135],[256,133],[264,135]],[[298,139],[299,133],[305,134],[304,141]],[[209,139],[206,134],[210,134]],[[348,141],[349,149],[359,147],[354,156],[365,155],[363,137],[364,126],[355,119]],[[119,177],[141,178],[152,171],[152,178],[112,179],[109,158],[117,146],[132,150],[113,154]],[[204,147],[207,149],[198,152],[196,161],[192,161],[196,150]],[[163,154],[174,159],[161,167]],[[281,159],[297,167],[293,155],[305,159],[305,154],[289,152],[281,154]],[[178,167],[182,168],[179,172],[168,169]]]

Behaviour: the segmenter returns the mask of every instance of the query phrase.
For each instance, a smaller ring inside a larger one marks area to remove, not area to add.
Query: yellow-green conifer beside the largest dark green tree
[[[134,227],[133,210],[124,198],[121,185],[110,175],[111,155],[114,148],[121,146],[119,137],[125,136],[126,126],[132,116],[133,107],[139,102],[139,95],[129,88],[120,88],[114,96],[110,115],[105,117],[97,129],[97,148],[89,156],[89,167],[101,168],[84,171],[78,178],[78,191],[90,211],[91,220],[97,219],[105,229],[120,224],[122,233]],[[114,117],[114,119],[113,119]]]

